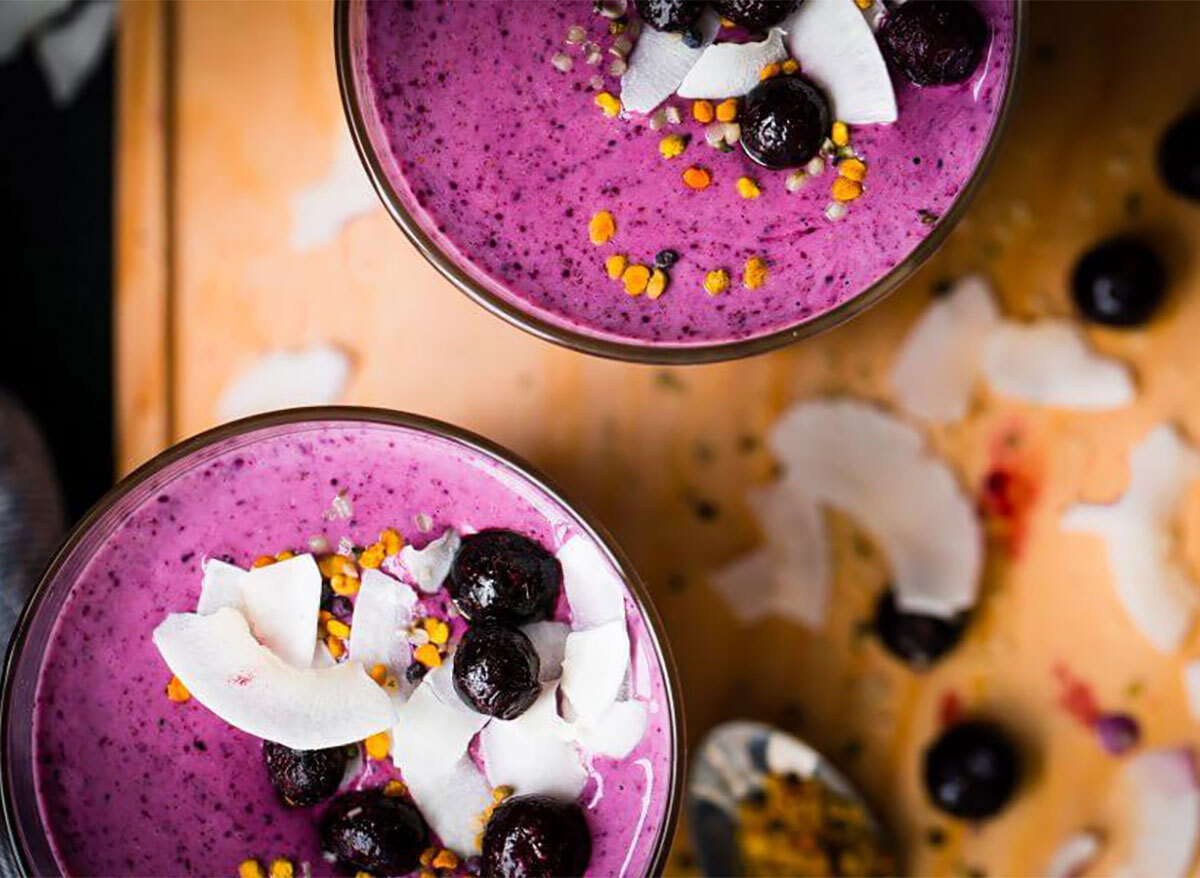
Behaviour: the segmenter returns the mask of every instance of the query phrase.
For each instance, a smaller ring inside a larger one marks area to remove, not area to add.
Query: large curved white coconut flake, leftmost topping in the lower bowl
[[[230,607],[173,613],[155,629],[154,644],[197,702],[256,738],[320,750],[396,723],[388,694],[358,662],[295,668],[254,639]]]

